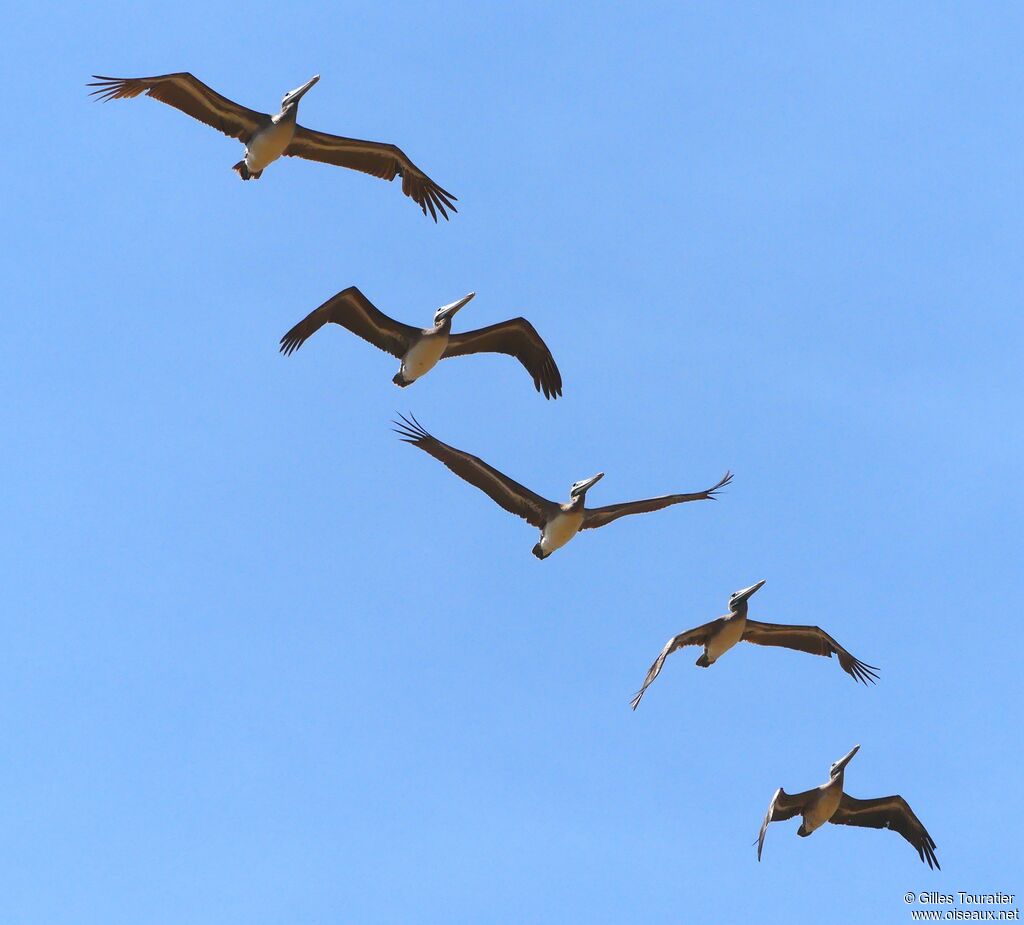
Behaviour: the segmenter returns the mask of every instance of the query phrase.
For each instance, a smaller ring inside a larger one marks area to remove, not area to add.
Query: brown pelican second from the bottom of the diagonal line
[[[753,642],[755,645],[781,645],[785,648],[796,648],[799,651],[810,653],[812,656],[825,656],[829,659],[835,654],[839,657],[840,667],[855,681],[863,681],[865,684],[868,681],[874,683],[874,679],[878,677],[876,672],[879,669],[855,659],[820,627],[788,626],[784,623],[758,623],[756,620],[748,620],[746,608],[751,595],[764,583],[765,579],[762,579],[756,585],[734,591],[729,598],[729,613],[724,617],[719,617],[718,620],[713,620],[703,626],[673,636],[665,644],[665,648],[654,660],[654,664],[650,666],[643,686],[637,691],[630,706],[636,710],[643,692],[651,681],[662,673],[665,660],[684,645],[702,645],[705,647],[703,655],[696,661],[700,668],[714,665],[724,653],[740,641]]]

